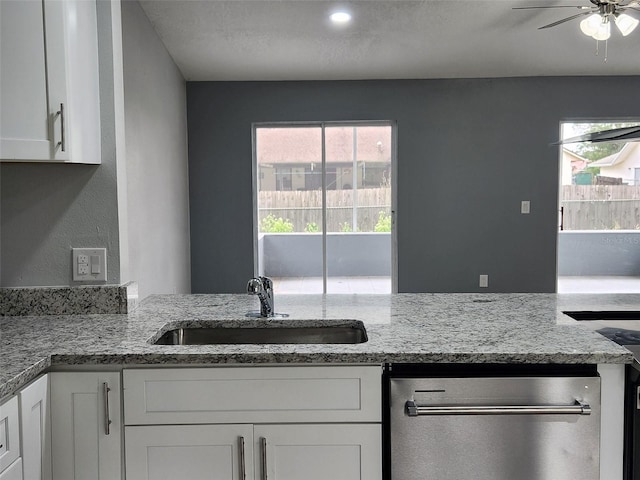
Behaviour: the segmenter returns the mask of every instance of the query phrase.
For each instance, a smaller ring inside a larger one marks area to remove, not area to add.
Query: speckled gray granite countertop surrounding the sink
[[[639,294],[281,295],[289,320],[361,320],[350,345],[153,345],[169,328],[248,322],[249,295],[153,295],[129,314],[0,317],[0,398],[49,367],[277,363],[631,363],[562,311],[640,310]]]

